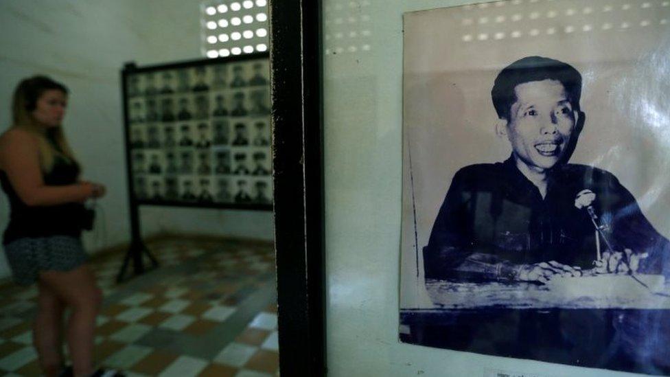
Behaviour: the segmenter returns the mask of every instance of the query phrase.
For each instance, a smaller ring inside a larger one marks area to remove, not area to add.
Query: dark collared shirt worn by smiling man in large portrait
[[[424,247],[426,278],[514,279],[522,264],[549,261],[592,268],[595,228],[586,209],[575,206],[585,189],[596,194],[592,206],[614,250],[647,252],[638,271],[665,272],[670,242],[614,175],[586,165],[557,165],[548,172],[542,198],[510,157],[467,166],[454,176]],[[600,244],[607,251],[602,239]]]

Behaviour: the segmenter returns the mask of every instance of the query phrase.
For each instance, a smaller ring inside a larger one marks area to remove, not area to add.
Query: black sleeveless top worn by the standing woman
[[[43,174],[45,185],[71,185],[77,182],[79,166],[65,157],[56,155],[51,172]],[[10,201],[10,222],[3,234],[3,244],[25,237],[81,235],[80,219],[84,205],[29,206],[14,191],[7,174],[0,170],[0,184]]]

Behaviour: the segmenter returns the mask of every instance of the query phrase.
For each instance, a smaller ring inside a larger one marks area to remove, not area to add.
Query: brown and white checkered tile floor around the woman
[[[270,244],[164,238],[148,247],[160,268],[120,285],[122,255],[91,261],[105,296],[100,365],[128,376],[279,374]],[[0,374],[40,373],[30,330],[36,293],[0,287]]]

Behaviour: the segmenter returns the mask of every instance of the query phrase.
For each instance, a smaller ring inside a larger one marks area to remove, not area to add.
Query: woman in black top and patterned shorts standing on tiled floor
[[[62,321],[75,376],[93,374],[93,332],[102,293],[86,264],[82,203],[105,193],[79,180],[62,131],[67,88],[45,76],[19,83],[12,127],[0,136],[0,183],[10,202],[3,246],[18,284],[38,284],[33,341],[46,376],[63,370]]]

